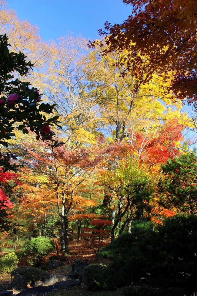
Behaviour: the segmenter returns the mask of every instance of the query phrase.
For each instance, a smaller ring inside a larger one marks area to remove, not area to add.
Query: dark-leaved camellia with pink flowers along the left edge
[[[54,124],[58,127],[56,104],[42,102],[42,94],[29,82],[20,80],[26,76],[33,64],[25,60],[24,53],[9,50],[8,37],[0,35],[0,173],[17,171],[21,165],[15,164],[17,155],[9,150],[9,140],[15,137],[15,130],[23,134],[29,131],[36,134],[36,140],[45,141],[49,146],[57,147],[58,143],[51,130]],[[55,116],[48,118],[48,114]],[[47,114],[47,118],[46,118]],[[16,232],[16,226],[8,220],[6,207],[7,197],[0,192],[0,232]]]

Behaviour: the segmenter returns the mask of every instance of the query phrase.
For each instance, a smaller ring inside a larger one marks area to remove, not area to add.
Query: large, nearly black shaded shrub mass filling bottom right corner
[[[137,285],[140,278],[146,278],[147,285],[159,288],[161,295],[190,295],[197,291],[196,254],[197,216],[175,215],[167,218],[164,225],[156,226],[155,231],[151,224],[134,225],[131,234],[120,236],[98,255],[113,260],[106,275],[113,274],[116,286],[132,282]],[[155,290],[147,290],[150,293]]]

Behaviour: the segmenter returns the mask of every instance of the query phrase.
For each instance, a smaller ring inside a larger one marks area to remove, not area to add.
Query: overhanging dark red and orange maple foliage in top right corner
[[[149,81],[155,70],[165,77],[175,70],[173,91],[182,100],[196,101],[196,1],[123,2],[132,5],[128,19],[115,25],[105,22],[106,31],[99,30],[104,40],[89,46],[105,44],[104,55],[116,51],[123,75],[134,70],[137,79],[144,72]]]

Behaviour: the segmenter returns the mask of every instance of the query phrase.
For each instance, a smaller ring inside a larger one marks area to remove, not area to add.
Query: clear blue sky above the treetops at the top
[[[121,0],[7,0],[19,19],[40,29],[42,39],[57,39],[70,33],[86,39],[97,38],[103,23],[123,22],[131,7]]]

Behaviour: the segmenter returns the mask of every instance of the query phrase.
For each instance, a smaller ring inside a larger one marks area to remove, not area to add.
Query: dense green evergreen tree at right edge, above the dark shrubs
[[[194,153],[182,154],[162,165],[164,179],[159,182],[162,203],[174,206],[182,213],[195,213],[197,209],[197,157]]]

